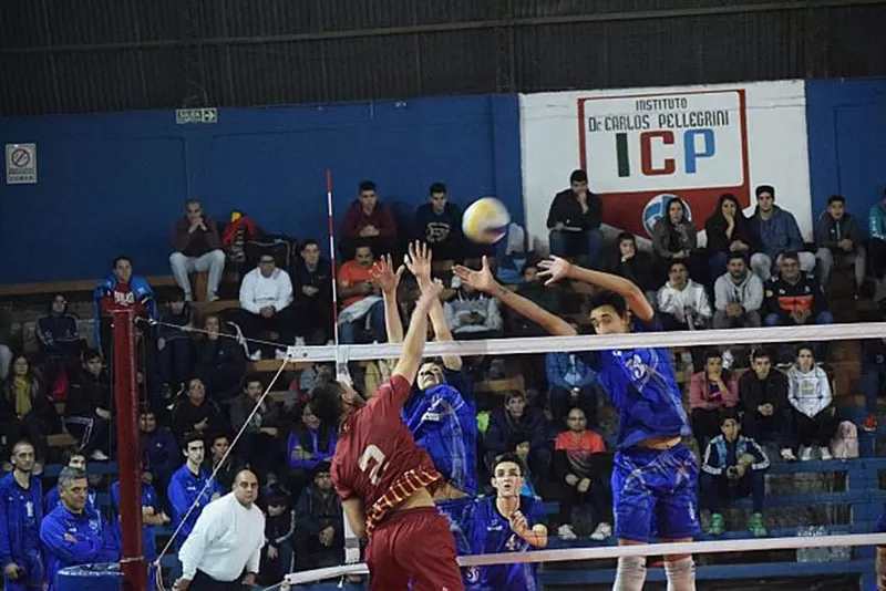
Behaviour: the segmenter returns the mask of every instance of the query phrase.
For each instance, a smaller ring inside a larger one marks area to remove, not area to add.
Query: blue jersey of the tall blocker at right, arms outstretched
[[[635,320],[633,332],[659,330]],[[690,435],[683,396],[667,349],[610,349],[597,355],[599,381],[619,412],[617,446],[627,449],[652,437]]]

